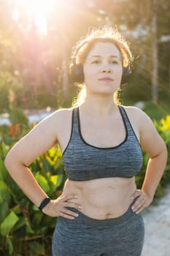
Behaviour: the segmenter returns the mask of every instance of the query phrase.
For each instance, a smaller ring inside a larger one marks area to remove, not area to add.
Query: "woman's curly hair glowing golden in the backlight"
[[[120,34],[117,29],[112,27],[104,26],[101,29],[90,29],[89,33],[80,39],[72,50],[72,57],[70,62],[70,68],[76,64],[84,64],[85,59],[90,53],[90,50],[93,49],[93,46],[96,42],[112,42],[117,49],[120,51],[120,56],[122,59],[123,68],[131,67],[134,57],[132,56],[131,50],[128,45],[128,41]],[[81,88],[80,93],[77,95],[77,99],[74,99],[72,105],[74,107],[82,105],[85,102],[86,89],[85,85],[78,84]],[[118,104],[119,100],[117,99],[119,89],[115,92],[114,101]]]

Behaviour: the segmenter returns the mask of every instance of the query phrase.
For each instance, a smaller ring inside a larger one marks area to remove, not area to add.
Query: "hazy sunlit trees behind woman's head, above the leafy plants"
[[[134,70],[121,99],[153,118],[170,109],[169,0],[0,0],[0,113],[69,107],[72,47],[91,26],[130,42]]]

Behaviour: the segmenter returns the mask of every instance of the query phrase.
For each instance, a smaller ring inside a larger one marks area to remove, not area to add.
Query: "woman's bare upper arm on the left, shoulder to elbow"
[[[31,162],[57,143],[63,119],[64,110],[58,110],[45,118],[13,146],[6,161],[10,159],[26,166],[31,165]]]

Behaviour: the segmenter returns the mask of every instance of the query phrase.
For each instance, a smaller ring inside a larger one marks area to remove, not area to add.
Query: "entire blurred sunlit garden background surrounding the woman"
[[[121,102],[142,108],[152,118],[170,152],[169,0],[0,0],[1,256],[51,255],[56,219],[28,200],[7,173],[4,158],[42,118],[72,105],[77,95],[68,71],[72,47],[90,27],[105,25],[117,28],[134,53],[134,69],[128,85],[122,87]],[[148,161],[146,152],[143,156],[136,176],[139,189]],[[38,157],[30,169],[50,198],[61,195],[66,173],[58,145]],[[146,251],[147,256],[169,255],[169,199],[164,199],[168,184],[170,155],[154,200],[158,205],[163,197],[155,219],[158,223],[159,216],[163,223],[155,226],[148,220],[147,242],[155,250]],[[158,239],[151,237],[154,233]]]

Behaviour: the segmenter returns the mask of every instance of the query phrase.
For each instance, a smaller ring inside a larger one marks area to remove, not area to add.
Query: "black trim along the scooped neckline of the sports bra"
[[[86,145],[92,147],[92,148],[98,148],[98,149],[113,149],[113,148],[118,148],[119,146],[123,145],[123,143],[125,143],[125,141],[127,140],[128,138],[128,129],[127,129],[127,126],[125,124],[125,119],[123,117],[123,113],[122,111],[120,110],[120,106],[118,105],[118,109],[119,109],[119,112],[120,112],[120,115],[122,117],[122,120],[123,120],[123,124],[124,124],[124,127],[125,127],[125,138],[122,142],[120,142],[118,145],[116,146],[111,146],[111,147],[98,147],[98,146],[95,146],[95,145],[92,145],[90,143],[88,143],[82,136],[82,132],[81,132],[81,125],[80,125],[80,108],[77,107],[77,119],[78,119],[78,129],[79,129],[79,134],[80,134],[80,138],[82,140],[83,143],[85,143]]]

